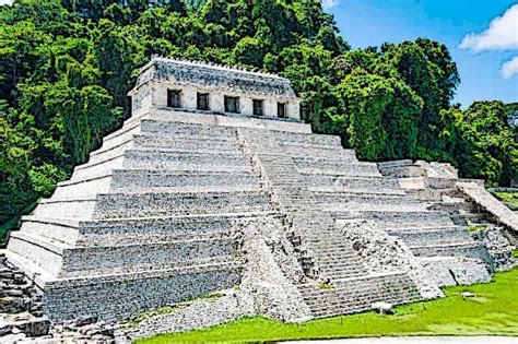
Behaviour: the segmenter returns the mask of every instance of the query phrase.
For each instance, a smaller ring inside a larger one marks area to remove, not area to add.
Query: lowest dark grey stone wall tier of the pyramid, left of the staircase
[[[142,272],[125,280],[117,275],[56,281],[45,286],[45,312],[54,320],[98,317],[123,319],[142,309],[165,307],[231,288],[240,281],[239,265]]]

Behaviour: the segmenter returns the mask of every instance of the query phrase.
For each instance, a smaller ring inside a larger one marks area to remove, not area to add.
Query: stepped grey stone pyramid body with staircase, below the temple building
[[[154,109],[24,216],[7,254],[35,276],[51,319],[123,319],[239,286],[250,269],[244,228],[271,220],[290,248],[275,269],[306,316],[322,318],[431,297],[404,266],[374,271],[345,221],[399,238],[414,258],[485,257],[435,203],[301,122]]]

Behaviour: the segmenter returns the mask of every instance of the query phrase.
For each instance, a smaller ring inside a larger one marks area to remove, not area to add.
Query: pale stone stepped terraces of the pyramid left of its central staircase
[[[11,234],[8,257],[36,276],[54,320],[122,319],[236,286],[236,228],[279,216],[236,127],[152,117],[106,137]]]

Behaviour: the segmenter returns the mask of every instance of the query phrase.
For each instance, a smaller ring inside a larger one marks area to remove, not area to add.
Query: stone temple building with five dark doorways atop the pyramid
[[[183,109],[299,120],[299,98],[287,79],[200,62],[154,58],[129,93],[133,112]]]

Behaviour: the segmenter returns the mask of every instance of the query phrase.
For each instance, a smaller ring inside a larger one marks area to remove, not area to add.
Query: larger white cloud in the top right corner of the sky
[[[518,4],[507,9],[503,16],[493,19],[484,32],[466,35],[459,48],[472,51],[518,49]]]

